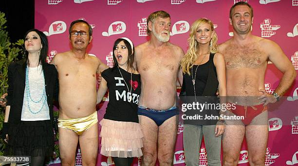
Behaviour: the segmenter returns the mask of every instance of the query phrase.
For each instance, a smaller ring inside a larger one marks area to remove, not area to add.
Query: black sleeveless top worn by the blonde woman
[[[193,75],[195,75],[196,67],[196,79],[195,79],[195,88],[196,88],[196,99],[198,103],[219,103],[218,98],[216,97],[216,91],[218,89],[218,80],[216,67],[213,63],[214,53],[210,53],[209,60],[200,66],[194,65],[190,68],[190,75],[187,73],[183,74],[183,85],[180,92],[180,99],[185,103],[192,103],[195,101],[194,97],[194,88],[192,83],[191,70],[193,70]],[[194,76],[193,76],[194,78]],[[207,98],[206,98],[207,97]],[[219,109],[204,109],[204,111],[195,111],[189,110],[186,111],[187,116],[201,115],[203,118],[207,116],[219,116]],[[216,119],[207,120],[184,120],[185,124],[194,124],[194,125],[215,125],[217,123]]]

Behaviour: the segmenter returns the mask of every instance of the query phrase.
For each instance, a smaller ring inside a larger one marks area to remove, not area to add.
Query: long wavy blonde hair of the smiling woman
[[[216,53],[219,51],[217,44],[217,34],[214,31],[213,23],[207,18],[200,18],[196,20],[190,27],[189,38],[187,39],[188,50],[180,61],[183,73],[187,73],[188,75],[190,75],[189,69],[193,66],[194,62],[198,58],[197,52],[200,49],[195,35],[197,33],[197,29],[204,23],[208,23],[211,26],[211,31],[214,32],[210,40],[210,43],[212,43],[212,45],[210,45],[209,43],[210,52]]]

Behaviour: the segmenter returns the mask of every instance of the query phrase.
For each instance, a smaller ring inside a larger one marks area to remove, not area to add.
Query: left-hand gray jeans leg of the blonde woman
[[[184,124],[183,147],[186,166],[199,166],[199,149],[202,138],[202,126]]]

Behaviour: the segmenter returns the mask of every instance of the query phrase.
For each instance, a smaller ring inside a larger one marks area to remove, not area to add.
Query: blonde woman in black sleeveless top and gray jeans
[[[206,18],[196,20],[190,28],[188,44],[189,49],[181,60],[182,93],[196,102],[202,102],[200,96],[216,99],[217,90],[220,96],[226,96],[225,63],[223,54],[218,52],[217,35],[213,23]],[[212,111],[220,117],[219,110]],[[221,135],[224,131],[224,123],[223,119],[185,121],[183,145],[186,166],[199,166],[199,149],[203,135],[208,166],[221,166]]]

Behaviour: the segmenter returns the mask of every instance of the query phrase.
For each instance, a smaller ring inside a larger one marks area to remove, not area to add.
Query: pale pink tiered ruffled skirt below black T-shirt
[[[112,157],[141,157],[143,155],[141,125],[135,122],[123,122],[102,119],[100,154]]]

